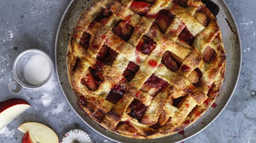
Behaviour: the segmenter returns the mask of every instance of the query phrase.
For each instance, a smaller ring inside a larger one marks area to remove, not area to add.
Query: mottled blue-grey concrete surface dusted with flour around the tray
[[[225,0],[228,3],[242,40],[242,71],[237,89],[221,115],[203,132],[184,143],[256,143],[256,1]],[[0,143],[20,143],[21,123],[33,121],[50,126],[61,139],[70,129],[85,130],[93,143],[112,143],[86,126],[73,112],[60,91],[56,72],[42,89],[22,89],[12,94],[7,84],[14,58],[25,49],[38,48],[54,62],[57,27],[69,0],[0,1],[0,101],[10,98],[27,100],[32,108],[0,130]],[[231,73],[226,73],[231,74]]]

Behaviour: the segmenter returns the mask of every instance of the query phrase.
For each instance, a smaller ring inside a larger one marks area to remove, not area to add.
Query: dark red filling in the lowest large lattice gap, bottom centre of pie
[[[126,112],[133,118],[141,120],[147,108],[148,107],[145,106],[141,101],[139,101],[138,99],[134,99],[132,103],[128,106]]]

